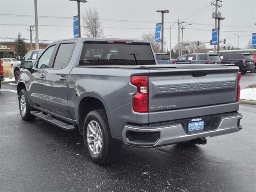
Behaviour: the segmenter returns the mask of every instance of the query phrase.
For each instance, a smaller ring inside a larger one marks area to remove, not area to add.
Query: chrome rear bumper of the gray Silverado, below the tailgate
[[[170,145],[180,142],[186,142],[196,138],[212,137],[223,134],[237,132],[242,129],[240,126],[241,113],[222,114],[216,116],[219,121],[214,130],[204,130],[198,133],[186,133],[182,124],[178,122],[163,122],[158,124],[150,124],[148,126],[126,125],[122,131],[122,140],[124,144],[137,147],[156,147]],[[135,136],[132,137],[131,135]],[[142,138],[136,139],[136,134]],[[145,136],[143,136],[145,134]]]

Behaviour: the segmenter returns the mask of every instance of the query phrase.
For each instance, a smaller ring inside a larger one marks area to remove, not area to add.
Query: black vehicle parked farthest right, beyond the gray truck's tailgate
[[[220,54],[223,64],[233,63],[239,67],[242,74],[246,74],[247,71],[253,70],[254,59],[252,54],[242,54],[242,53],[222,53]]]

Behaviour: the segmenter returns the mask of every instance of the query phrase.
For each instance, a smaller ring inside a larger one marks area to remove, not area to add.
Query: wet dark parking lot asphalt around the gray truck
[[[10,90],[16,90],[16,86],[2,84],[1,192],[252,192],[256,189],[255,105],[240,104],[241,131],[208,138],[206,145],[176,144],[149,149],[122,145],[116,162],[99,166],[86,156],[82,136],[77,132],[66,132],[38,119],[23,121],[17,94]]]

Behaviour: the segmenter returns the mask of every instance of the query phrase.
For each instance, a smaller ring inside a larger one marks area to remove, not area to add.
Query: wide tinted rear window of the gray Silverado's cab
[[[155,65],[149,45],[84,44],[80,65]]]

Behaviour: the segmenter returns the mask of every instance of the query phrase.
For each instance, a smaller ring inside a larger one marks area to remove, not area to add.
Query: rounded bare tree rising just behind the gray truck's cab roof
[[[82,14],[82,32],[86,37],[103,37],[103,28],[96,8],[85,9]]]

